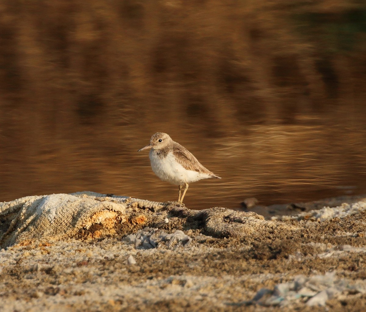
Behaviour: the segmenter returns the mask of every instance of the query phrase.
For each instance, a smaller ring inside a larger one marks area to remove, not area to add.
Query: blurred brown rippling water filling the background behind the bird
[[[366,193],[366,7],[354,1],[4,1],[0,201],[176,200],[167,132],[221,180],[190,208]]]

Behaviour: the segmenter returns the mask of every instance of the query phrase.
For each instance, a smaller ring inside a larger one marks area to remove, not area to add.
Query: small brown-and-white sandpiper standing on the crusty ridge
[[[208,178],[221,179],[203,167],[190,151],[174,142],[166,133],[157,132],[151,137],[150,144],[138,151],[146,149],[151,149],[149,154],[151,168],[160,180],[179,185],[180,203],[183,203],[189,183]],[[183,185],[185,188],[181,194]]]

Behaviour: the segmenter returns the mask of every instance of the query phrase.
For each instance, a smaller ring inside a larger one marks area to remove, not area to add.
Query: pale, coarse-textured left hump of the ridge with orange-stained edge
[[[63,240],[77,237],[80,230],[94,224],[113,233],[116,223],[127,221],[127,207],[158,211],[162,204],[125,196],[108,197],[94,192],[27,196],[0,203],[0,247],[22,241]]]

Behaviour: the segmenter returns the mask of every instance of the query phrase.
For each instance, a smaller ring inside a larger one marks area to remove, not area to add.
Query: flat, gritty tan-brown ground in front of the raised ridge
[[[279,307],[251,300],[299,274],[366,279],[366,241],[357,226],[365,222],[365,215],[302,222],[287,239],[277,232],[249,240],[186,230],[191,244],[174,249],[136,249],[119,238],[17,245],[0,255],[2,311],[273,311]],[[136,264],[128,264],[130,255]],[[365,294],[345,293],[317,309],[362,311],[365,305]],[[300,298],[280,309],[314,307]]]

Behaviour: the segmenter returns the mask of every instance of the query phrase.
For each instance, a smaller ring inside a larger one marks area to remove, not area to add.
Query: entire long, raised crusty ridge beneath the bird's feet
[[[254,212],[223,207],[190,210],[176,202],[156,203],[93,192],[27,196],[0,203],[0,246],[37,239],[66,240],[125,236],[146,226],[194,230],[213,237],[249,238],[295,229]]]

